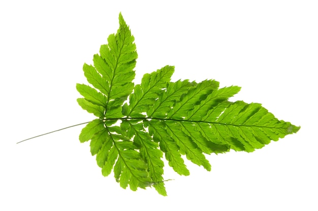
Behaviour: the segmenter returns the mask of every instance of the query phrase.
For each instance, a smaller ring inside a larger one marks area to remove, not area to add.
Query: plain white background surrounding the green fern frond
[[[238,85],[233,100],[259,102],[302,128],[253,153],[207,156],[165,168],[167,197],[103,177],[78,106],[82,66],[118,28],[122,12],[144,73],[174,65],[173,80]],[[316,1],[1,1],[0,210],[318,210]]]

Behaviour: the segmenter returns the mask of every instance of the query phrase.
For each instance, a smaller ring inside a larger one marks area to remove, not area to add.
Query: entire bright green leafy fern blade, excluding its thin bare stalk
[[[153,186],[166,195],[163,156],[180,175],[189,175],[186,157],[211,170],[205,154],[230,149],[253,152],[300,127],[278,120],[258,103],[230,102],[238,86],[219,88],[215,80],[171,82],[174,67],[145,74],[134,85],[134,37],[119,14],[117,34],[108,37],[93,66],[84,64],[87,81],[77,84],[77,101],[97,116],[80,134],[104,176],[112,171],[122,188]]]

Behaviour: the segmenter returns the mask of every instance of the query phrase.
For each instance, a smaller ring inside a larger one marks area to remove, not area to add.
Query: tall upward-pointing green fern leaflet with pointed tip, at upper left
[[[87,81],[99,89],[107,100],[105,102],[105,99],[103,100],[96,93],[90,98],[87,98],[87,95],[84,97],[87,101],[96,103],[96,100],[92,98],[98,98],[99,101],[102,100],[103,104],[106,103],[105,116],[108,118],[120,115],[121,108],[119,106],[133,91],[134,83],[132,81],[135,77],[133,69],[138,57],[136,45],[133,43],[135,38],[131,35],[131,31],[121,14],[119,15],[119,23],[117,34],[108,37],[108,45],[101,46],[100,55],[94,55],[94,67],[86,64],[83,67]],[[77,85],[78,91],[83,95],[85,93],[83,93],[82,88],[83,86]],[[85,87],[85,91],[88,91],[87,87]],[[83,105],[83,102],[81,104]],[[114,112],[113,109],[117,109],[117,111]],[[92,112],[92,109],[89,112]]]

